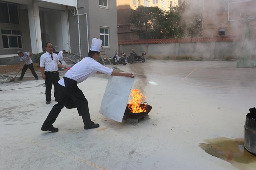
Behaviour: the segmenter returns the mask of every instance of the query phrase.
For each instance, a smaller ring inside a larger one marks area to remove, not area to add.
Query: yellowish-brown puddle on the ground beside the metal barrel
[[[256,156],[244,149],[244,139],[218,137],[204,140],[199,146],[212,156],[233,164],[240,170],[256,170]]]

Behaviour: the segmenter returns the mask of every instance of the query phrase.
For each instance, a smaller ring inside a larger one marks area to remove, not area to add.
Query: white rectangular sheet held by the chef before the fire
[[[110,76],[99,113],[122,122],[134,78]]]

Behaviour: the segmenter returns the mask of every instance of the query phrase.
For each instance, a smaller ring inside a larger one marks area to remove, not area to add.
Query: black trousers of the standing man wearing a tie
[[[46,76],[46,79],[44,80],[46,101],[50,102],[52,100],[52,84],[54,86],[55,100],[58,100],[58,81],[60,80],[59,72],[44,71],[44,74]]]

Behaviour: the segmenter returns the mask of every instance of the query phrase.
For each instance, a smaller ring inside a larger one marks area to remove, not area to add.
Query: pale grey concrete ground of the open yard
[[[106,65],[112,68],[114,65]],[[0,170],[256,170],[244,150],[244,124],[256,107],[256,69],[236,61],[166,61],[117,65],[135,74],[133,88],[152,106],[137,125],[99,113],[108,77],[79,84],[97,129],[84,130],[76,109],[64,108],[41,131],[53,101],[44,80],[0,84]],[[65,71],[61,71],[61,77]],[[117,87],[118,88],[118,87]]]

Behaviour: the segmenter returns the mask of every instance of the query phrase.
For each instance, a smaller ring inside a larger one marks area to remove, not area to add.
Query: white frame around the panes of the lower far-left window
[[[11,34],[2,34],[2,30],[11,31]],[[12,31],[20,31],[20,34],[13,34]],[[1,35],[2,35],[2,41],[3,41],[3,48],[4,48],[4,49],[17,49],[17,48],[21,49],[21,48],[23,48],[21,30],[1,29]],[[5,48],[5,47],[4,47],[5,44],[6,44],[6,43],[4,42],[4,40],[6,40],[6,39],[4,39],[3,36],[7,37],[8,48]],[[10,44],[10,43],[11,43],[11,42],[10,42],[10,39],[13,38],[13,37],[16,37],[16,41],[15,41],[15,42],[17,42],[17,47],[10,47],[10,45],[12,45],[12,44]]]

